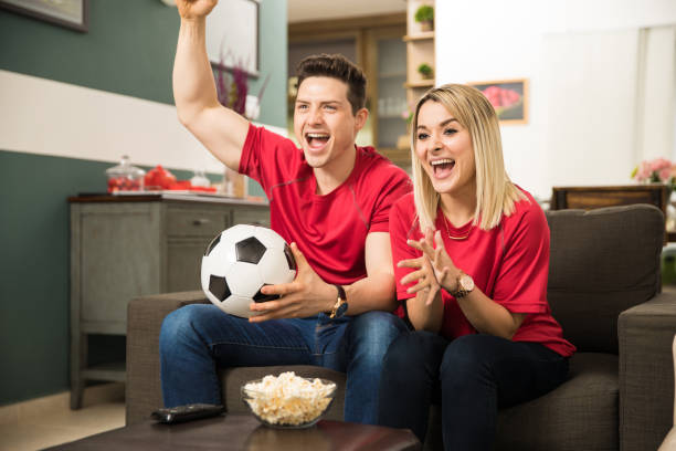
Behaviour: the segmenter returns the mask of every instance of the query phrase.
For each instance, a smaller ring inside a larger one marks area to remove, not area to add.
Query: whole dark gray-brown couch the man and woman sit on
[[[577,347],[570,379],[556,390],[499,412],[500,450],[655,450],[672,427],[670,346],[676,295],[661,293],[664,217],[651,206],[547,212],[551,230],[548,296],[564,336]],[[201,292],[131,301],[127,332],[127,423],[161,405],[158,333]],[[244,412],[243,381],[293,369],[345,387],[345,375],[318,367],[222,371],[223,403]],[[341,419],[342,392],[328,418]],[[439,409],[432,409],[426,449],[441,449]]]

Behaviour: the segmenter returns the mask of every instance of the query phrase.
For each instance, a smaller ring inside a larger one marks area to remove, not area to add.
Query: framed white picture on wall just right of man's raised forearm
[[[260,0],[221,1],[207,15],[207,54],[213,67],[258,76]]]

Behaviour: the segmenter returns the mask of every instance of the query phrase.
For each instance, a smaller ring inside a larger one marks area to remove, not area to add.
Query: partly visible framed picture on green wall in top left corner
[[[89,27],[89,0],[0,0],[0,8],[82,32]]]

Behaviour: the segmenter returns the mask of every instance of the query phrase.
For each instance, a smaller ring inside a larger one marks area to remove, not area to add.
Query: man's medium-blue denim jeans
[[[165,406],[221,403],[219,368],[316,365],[347,373],[345,420],[373,424],[382,359],[404,331],[385,312],[250,323],[214,305],[187,305],[167,315],[160,332]]]

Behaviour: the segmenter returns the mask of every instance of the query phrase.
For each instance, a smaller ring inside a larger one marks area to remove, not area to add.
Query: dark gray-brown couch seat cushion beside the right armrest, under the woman
[[[570,379],[498,416],[498,450],[617,450],[617,357],[578,353]]]

